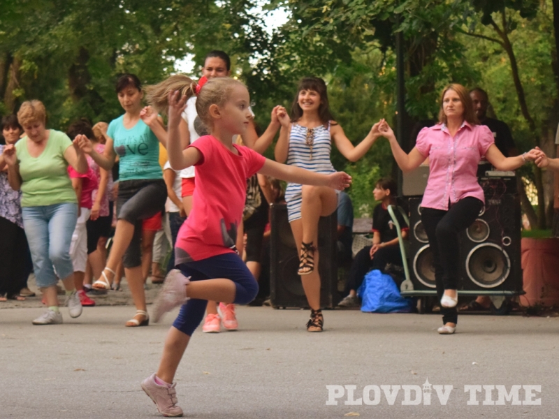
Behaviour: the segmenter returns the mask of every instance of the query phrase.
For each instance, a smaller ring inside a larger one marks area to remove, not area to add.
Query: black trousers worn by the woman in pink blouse
[[[484,203],[472,196],[467,196],[449,207],[449,210],[435,210],[421,207],[421,222],[429,239],[435,265],[435,283],[437,296],[442,298],[444,290],[458,288],[458,266],[460,265],[460,247],[458,233],[470,227],[476,220]],[[442,323],[456,323],[456,307],[441,307]]]

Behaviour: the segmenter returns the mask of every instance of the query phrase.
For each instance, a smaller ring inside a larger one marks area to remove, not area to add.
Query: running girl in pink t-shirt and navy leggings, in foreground
[[[212,79],[200,89],[196,111],[211,134],[182,150],[178,127],[187,96],[179,98],[178,92],[169,95],[168,155],[175,170],[196,166],[194,205],[177,237],[175,263],[180,270],[168,274],[155,303],[154,321],[166,311],[182,307],[168,332],[157,374],[142,383],[164,416],[182,416],[173,378],[192,333],[202,321],[207,301],[247,304],[258,293],[256,280],[235,248],[247,179],[259,172],[338,190],[351,183],[344,172],[326,175],[285,166],[233,144],[234,135],[245,133],[251,113],[247,88],[230,78]]]

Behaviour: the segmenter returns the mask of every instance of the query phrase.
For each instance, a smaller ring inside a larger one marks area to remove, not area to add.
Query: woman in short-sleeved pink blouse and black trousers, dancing
[[[504,157],[493,134],[479,125],[465,87],[449,84],[441,95],[439,124],[423,128],[415,147],[406,154],[392,129],[380,130],[390,141],[394,159],[403,172],[429,158],[429,179],[421,202],[421,221],[429,238],[435,265],[437,295],[441,300],[441,335],[456,330],[458,312],[458,233],[472,224],[484,206],[484,191],[477,182],[477,163],[485,157],[497,170],[514,170],[539,153],[532,149],[516,157]]]

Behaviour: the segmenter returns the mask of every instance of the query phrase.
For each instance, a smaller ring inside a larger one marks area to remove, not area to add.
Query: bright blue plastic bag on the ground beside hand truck
[[[361,311],[366,313],[412,311],[412,302],[400,295],[400,290],[392,277],[379,270],[372,270],[365,275],[357,295],[361,298]]]

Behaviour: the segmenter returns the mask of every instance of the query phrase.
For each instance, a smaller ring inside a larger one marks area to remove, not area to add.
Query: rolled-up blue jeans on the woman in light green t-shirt
[[[69,277],[74,272],[70,244],[78,219],[78,205],[23,207],[22,215],[37,286],[47,288],[55,285],[58,277]]]

